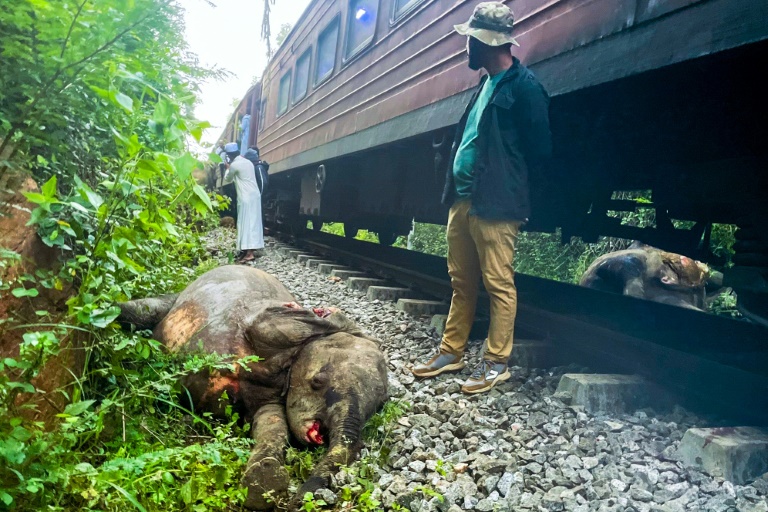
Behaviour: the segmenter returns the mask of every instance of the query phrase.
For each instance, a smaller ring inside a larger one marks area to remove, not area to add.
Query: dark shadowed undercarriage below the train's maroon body
[[[768,311],[768,98],[755,74],[766,58],[763,41],[552,98],[555,161],[533,183],[527,229],[559,228],[563,241],[637,239],[718,264],[712,226],[737,225],[726,284]],[[348,236],[367,229],[382,243],[413,220],[444,224],[454,129],[274,175],[268,220],[343,222]],[[647,191],[650,202],[617,198],[626,191]],[[616,215],[638,207],[655,211],[652,225]]]

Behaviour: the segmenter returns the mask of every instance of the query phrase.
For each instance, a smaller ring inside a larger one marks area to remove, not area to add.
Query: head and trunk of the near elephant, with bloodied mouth
[[[368,338],[336,333],[302,350],[291,368],[286,401],[293,435],[328,452],[297,496],[325,487],[339,466],[358,454],[362,428],[387,400],[387,366]]]

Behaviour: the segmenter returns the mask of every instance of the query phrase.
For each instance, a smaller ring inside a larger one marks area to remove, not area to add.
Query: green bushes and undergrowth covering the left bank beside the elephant
[[[221,198],[193,178],[188,151],[207,126],[193,117],[209,71],[162,0],[19,0],[0,10],[0,178],[27,172],[31,222],[59,264],[25,273],[0,253],[3,300],[20,300],[0,359],[0,508],[222,510],[238,507],[250,451],[236,415],[189,414],[180,379],[231,364],[166,355],[150,333],[123,333],[115,302],[176,291],[211,262],[196,228]],[[38,307],[55,291],[62,307]],[[82,365],[70,364],[77,354]],[[37,387],[49,365],[71,371]],[[37,403],[67,404],[44,422]],[[36,400],[37,399],[37,400]]]

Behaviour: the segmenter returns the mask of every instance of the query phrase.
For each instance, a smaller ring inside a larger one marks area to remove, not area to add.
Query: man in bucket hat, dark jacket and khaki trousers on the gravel
[[[512,11],[501,2],[475,7],[467,36],[469,67],[488,73],[459,122],[443,203],[448,214],[448,274],[453,298],[442,343],[429,361],[413,368],[434,377],[464,368],[464,348],[482,278],[491,302],[484,359],[462,386],[488,391],[509,378],[507,361],[517,313],[512,260],[520,226],[530,215],[529,176],[543,173],[551,157],[549,96],[533,73],[510,53]]]

